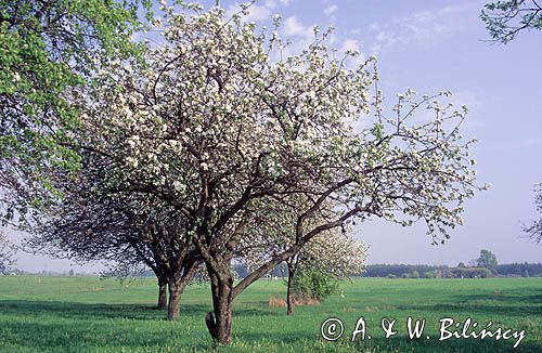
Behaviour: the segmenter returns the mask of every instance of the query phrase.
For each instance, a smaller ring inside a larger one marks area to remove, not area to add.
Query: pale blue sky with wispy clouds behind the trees
[[[280,32],[295,45],[311,40],[312,26],[334,26],[332,47],[377,57],[385,103],[406,88],[420,94],[450,90],[456,106],[469,108],[463,134],[478,140],[472,149],[478,181],[492,188],[466,204],[465,225],[453,230],[444,245],[431,246],[423,224],[363,223],[356,237],[371,244],[369,263],[456,265],[476,259],[481,249],[495,253],[500,263],[542,261],[542,245],[521,232],[521,224],[540,217],[533,187],[542,182],[542,31],[521,32],[506,45],[492,43],[479,18],[485,3],[262,0],[250,8],[247,21],[268,27],[273,14],[281,14]],[[235,1],[220,4],[228,13],[237,9]],[[18,253],[17,267],[101,269],[26,253]]]

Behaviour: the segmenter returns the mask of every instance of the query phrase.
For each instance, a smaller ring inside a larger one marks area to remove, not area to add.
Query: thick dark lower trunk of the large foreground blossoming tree
[[[212,338],[222,344],[232,341],[232,277],[219,280],[216,276],[211,276],[214,312],[207,314],[205,322]]]

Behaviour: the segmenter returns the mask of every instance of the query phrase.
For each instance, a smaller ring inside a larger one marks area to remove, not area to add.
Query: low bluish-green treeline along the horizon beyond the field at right
[[[499,264],[490,271],[483,267],[425,264],[372,264],[367,265],[364,277],[489,277],[489,276],[542,276],[542,263]]]

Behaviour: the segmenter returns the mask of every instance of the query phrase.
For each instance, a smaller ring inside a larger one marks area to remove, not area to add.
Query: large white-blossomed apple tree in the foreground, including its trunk
[[[176,209],[177,236],[210,278],[216,340],[231,341],[234,298],[322,233],[353,219],[420,220],[436,243],[462,223],[477,188],[472,141],[459,132],[466,109],[447,93],[408,90],[388,116],[372,93],[374,60],[347,68],[357,53],[328,49],[328,31],[315,27],[308,48],[284,57],[276,30],[258,32],[219,6],[181,1],[163,13],[163,41],[145,65],[112,61],[92,89],[74,90],[83,109],[77,139],[106,160],[104,191]],[[231,261],[260,201],[296,214],[283,224],[295,240],[234,284]]]

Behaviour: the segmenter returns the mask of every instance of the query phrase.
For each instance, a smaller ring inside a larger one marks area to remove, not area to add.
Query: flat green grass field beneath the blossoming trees
[[[182,317],[171,323],[153,309],[156,285],[151,279],[122,285],[100,278],[0,276],[0,351],[542,352],[542,278],[362,278],[343,283],[344,296],[298,306],[289,317],[285,309],[268,305],[284,289],[282,280],[260,280],[241,295],[234,306],[234,342],[221,348],[212,344],[205,327],[210,310],[205,286],[186,289]],[[326,342],[320,327],[332,316],[343,321],[344,339]],[[350,342],[361,316],[372,339]],[[408,338],[408,316],[426,318],[423,338]],[[383,317],[397,319],[392,338],[384,338]],[[441,317],[470,317],[478,328],[493,322],[492,328],[525,329],[526,337],[516,350],[516,339],[439,341]]]

